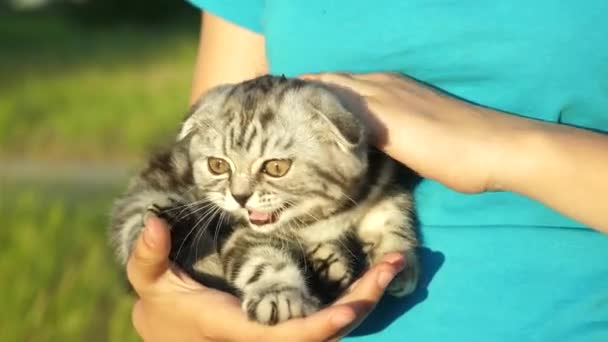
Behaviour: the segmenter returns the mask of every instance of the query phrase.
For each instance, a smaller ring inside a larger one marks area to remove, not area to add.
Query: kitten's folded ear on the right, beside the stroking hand
[[[327,138],[335,141],[338,146],[349,151],[365,143],[366,130],[361,119],[349,111],[329,90],[318,88],[307,98],[309,109],[320,118],[324,125],[321,131],[331,136]]]

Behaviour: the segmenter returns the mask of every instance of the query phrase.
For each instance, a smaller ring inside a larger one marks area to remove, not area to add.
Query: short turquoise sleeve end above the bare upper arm
[[[187,0],[192,5],[248,30],[262,32],[264,0]]]

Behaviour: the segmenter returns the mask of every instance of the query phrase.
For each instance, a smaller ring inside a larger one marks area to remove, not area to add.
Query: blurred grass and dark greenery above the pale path
[[[170,136],[188,109],[197,39],[190,24],[0,24],[8,47],[0,56],[0,157],[125,159]]]

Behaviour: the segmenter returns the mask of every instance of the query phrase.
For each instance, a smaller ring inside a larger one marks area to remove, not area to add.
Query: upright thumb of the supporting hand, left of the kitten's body
[[[170,250],[167,224],[158,217],[149,217],[127,262],[127,277],[137,293],[141,295],[168,270]]]

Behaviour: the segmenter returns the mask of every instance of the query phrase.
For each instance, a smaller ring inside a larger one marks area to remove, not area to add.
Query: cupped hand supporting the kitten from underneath
[[[170,245],[166,224],[152,217],[127,264],[139,296],[133,324],[144,341],[337,340],[367,316],[404,264],[400,255],[387,255],[330,307],[271,327],[249,321],[236,297],[206,288],[174,267]]]

